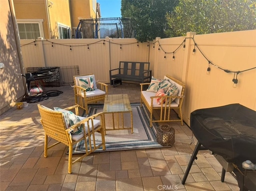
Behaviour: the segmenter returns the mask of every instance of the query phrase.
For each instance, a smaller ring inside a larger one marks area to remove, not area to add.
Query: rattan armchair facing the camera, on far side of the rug
[[[88,114],[88,103],[95,103],[97,101],[104,101],[105,95],[108,94],[108,85],[96,82],[94,78],[94,91],[86,92],[86,89],[79,86],[79,78],[93,76],[94,74],[85,74],[74,76],[74,94],[75,104],[83,108]],[[97,88],[98,85],[98,88]]]

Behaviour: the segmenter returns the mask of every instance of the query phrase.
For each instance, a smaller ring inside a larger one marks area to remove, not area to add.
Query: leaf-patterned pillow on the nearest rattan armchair
[[[66,109],[62,109],[62,108],[59,108],[59,107],[54,107],[54,111],[60,111],[60,112],[63,113],[63,115],[65,116],[68,128],[81,121],[79,119],[79,117],[76,116],[75,113],[73,113],[72,111],[68,111]],[[81,133],[83,133],[83,127],[82,126],[83,125],[78,126],[76,129],[74,129],[70,133],[71,134],[81,134]]]

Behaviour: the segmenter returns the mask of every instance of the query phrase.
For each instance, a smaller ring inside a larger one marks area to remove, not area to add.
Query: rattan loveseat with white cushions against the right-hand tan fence
[[[142,103],[146,106],[148,111],[150,112],[150,127],[152,127],[152,122],[167,122],[167,121],[180,121],[181,125],[183,125],[182,119],[182,102],[184,98],[184,90],[185,84],[172,78],[169,75],[164,76],[164,80],[168,80],[171,84],[174,84],[177,87],[178,93],[176,96],[157,96],[156,92],[148,92],[143,91],[144,86],[152,85],[150,83],[142,83],[140,84],[140,107],[142,107]],[[152,83],[152,81],[151,81]],[[157,100],[158,99],[158,100]],[[170,104],[169,104],[170,103]],[[160,109],[160,119],[153,118],[154,109]],[[180,119],[171,119],[171,109],[178,110],[178,114]]]

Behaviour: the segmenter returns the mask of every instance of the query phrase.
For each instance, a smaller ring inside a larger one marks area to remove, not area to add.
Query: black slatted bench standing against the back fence
[[[120,61],[119,68],[109,71],[110,85],[122,84],[124,81],[150,82],[152,70],[149,70],[149,62]]]

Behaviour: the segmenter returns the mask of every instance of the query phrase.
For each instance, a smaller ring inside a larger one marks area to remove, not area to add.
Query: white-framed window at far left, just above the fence
[[[20,39],[44,38],[43,19],[17,19]]]

